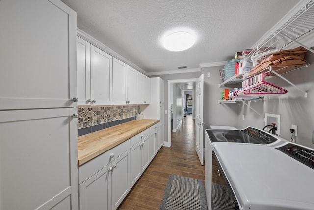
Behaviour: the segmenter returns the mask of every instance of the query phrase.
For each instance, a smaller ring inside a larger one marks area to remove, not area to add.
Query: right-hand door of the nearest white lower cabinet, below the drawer
[[[111,202],[115,210],[130,191],[130,150],[113,160],[111,167]]]

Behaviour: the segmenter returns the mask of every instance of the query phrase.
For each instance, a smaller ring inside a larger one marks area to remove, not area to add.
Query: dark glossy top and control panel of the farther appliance
[[[270,144],[278,140],[272,135],[252,127],[244,130],[208,129],[206,132],[211,142]]]

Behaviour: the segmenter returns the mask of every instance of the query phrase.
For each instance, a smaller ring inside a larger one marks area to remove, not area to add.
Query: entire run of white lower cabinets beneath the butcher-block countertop
[[[78,168],[79,209],[116,210],[153,160],[159,123]]]

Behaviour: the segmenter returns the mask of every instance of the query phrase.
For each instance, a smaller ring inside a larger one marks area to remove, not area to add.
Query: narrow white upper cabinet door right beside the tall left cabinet
[[[88,105],[90,97],[90,44],[77,37],[78,105]]]

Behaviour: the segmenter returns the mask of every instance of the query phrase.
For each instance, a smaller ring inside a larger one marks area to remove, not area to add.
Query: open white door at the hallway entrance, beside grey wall
[[[195,91],[195,150],[200,159],[201,164],[204,164],[203,151],[203,89],[204,89],[204,75],[202,74],[196,82]]]

